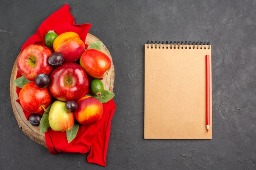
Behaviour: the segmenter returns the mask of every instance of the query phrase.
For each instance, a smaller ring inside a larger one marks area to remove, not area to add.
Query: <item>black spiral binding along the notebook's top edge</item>
[[[149,43],[149,40],[148,40],[148,49],[150,48],[150,45],[151,45],[151,49],[153,49],[154,47],[155,47],[155,49],[157,49],[157,47],[160,49],[161,48],[161,45],[162,45],[162,48],[164,49],[164,48],[166,48],[166,49],[168,49],[168,48],[170,48],[170,49],[207,49],[207,46],[208,46],[208,49],[210,49],[210,42],[192,42],[191,43],[191,41],[189,41],[189,42],[187,42],[187,41],[185,41],[185,43],[182,41],[181,43],[180,43],[180,41],[177,41],[177,43],[176,43],[176,41],[174,41],[174,42],[172,42],[172,41],[170,41],[170,43],[168,43],[168,41],[166,41],[166,42],[164,42],[164,41],[162,41],[162,43],[161,43],[161,41],[158,41],[158,43],[157,43],[157,41],[155,41],[155,43],[153,43],[153,41],[151,41],[151,43]],[[166,46],[165,46],[166,45]],[[169,47],[169,45],[170,45],[170,47]]]

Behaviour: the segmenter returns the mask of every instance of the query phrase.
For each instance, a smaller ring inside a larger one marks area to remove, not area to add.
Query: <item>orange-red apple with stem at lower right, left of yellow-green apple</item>
[[[39,88],[35,82],[25,84],[19,93],[20,105],[30,113],[41,113],[51,102],[48,88]]]

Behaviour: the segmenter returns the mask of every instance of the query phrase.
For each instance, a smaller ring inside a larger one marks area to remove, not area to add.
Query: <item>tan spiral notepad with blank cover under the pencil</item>
[[[206,55],[209,55],[209,94]],[[145,44],[144,90],[145,139],[212,138],[209,42]]]

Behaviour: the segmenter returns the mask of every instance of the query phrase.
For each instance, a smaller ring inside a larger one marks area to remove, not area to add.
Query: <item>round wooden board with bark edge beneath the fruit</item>
[[[100,41],[100,40],[94,35],[88,33],[85,43],[90,45],[96,41]],[[101,51],[103,51],[104,53],[106,53],[106,55],[108,55],[112,63],[112,66],[110,68],[110,71],[108,72],[108,75],[105,75],[101,81],[103,82],[105,90],[113,92],[114,81],[115,81],[115,68],[112,61],[112,57],[110,55],[110,52],[108,51],[108,49],[103,43],[102,43]],[[18,104],[18,102],[16,102],[16,100],[18,99],[18,95],[16,93],[16,85],[13,83],[13,80],[16,79],[17,71],[18,71],[18,68],[17,68],[17,59],[16,59],[11,72],[10,96],[11,96],[11,106],[13,108],[13,113],[17,120],[18,126],[20,130],[22,130],[22,132],[24,132],[25,135],[27,135],[30,139],[32,139],[33,141],[35,141],[36,143],[42,146],[47,147],[45,144],[45,135],[40,133],[39,126],[36,126],[36,127],[32,126],[29,123],[29,121],[27,121],[23,113],[22,107],[20,106],[20,104]]]

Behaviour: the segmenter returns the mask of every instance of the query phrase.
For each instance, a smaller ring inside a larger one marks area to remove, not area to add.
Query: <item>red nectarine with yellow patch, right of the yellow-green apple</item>
[[[94,97],[84,96],[77,102],[77,109],[74,112],[76,120],[83,125],[92,125],[97,123],[103,115],[103,105]]]

